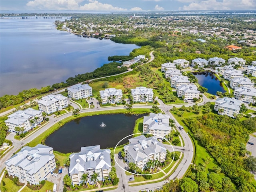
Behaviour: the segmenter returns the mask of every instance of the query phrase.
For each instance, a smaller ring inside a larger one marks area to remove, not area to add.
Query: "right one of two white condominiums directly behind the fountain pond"
[[[136,87],[131,89],[133,102],[153,102],[153,89],[146,87]]]

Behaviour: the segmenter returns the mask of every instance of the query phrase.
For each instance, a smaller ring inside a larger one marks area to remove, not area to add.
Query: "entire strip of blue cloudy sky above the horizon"
[[[4,10],[177,11],[256,10],[256,0],[0,0]]]

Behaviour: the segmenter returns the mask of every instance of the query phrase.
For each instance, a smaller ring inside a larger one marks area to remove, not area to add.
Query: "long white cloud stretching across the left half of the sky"
[[[114,7],[111,4],[101,3],[96,0],[89,0],[87,4],[79,5],[82,0],[33,0],[26,6],[41,10],[111,10],[126,11],[126,8]]]

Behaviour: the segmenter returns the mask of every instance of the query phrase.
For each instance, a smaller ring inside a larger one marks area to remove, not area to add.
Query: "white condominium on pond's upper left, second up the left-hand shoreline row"
[[[62,94],[50,94],[42,97],[42,99],[38,101],[39,110],[47,114],[52,114],[66,107],[68,107],[68,98]]]

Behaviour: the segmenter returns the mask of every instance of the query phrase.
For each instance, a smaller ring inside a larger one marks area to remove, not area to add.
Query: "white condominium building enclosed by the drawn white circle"
[[[125,161],[133,162],[143,170],[149,160],[164,162],[166,148],[156,137],[146,138],[144,135],[129,139],[129,144],[124,146]]]

